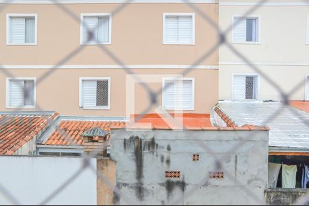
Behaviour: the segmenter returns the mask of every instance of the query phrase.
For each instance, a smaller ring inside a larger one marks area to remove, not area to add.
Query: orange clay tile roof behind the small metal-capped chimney
[[[110,128],[124,128],[125,126],[126,122],[122,121],[62,120],[43,144],[49,146],[82,146],[84,144],[83,136],[106,137],[107,135],[108,139]],[[102,134],[106,135],[102,136]]]

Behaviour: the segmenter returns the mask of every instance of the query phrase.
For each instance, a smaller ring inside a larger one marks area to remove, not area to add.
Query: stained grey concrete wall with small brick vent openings
[[[199,154],[200,161],[192,161],[193,154]],[[214,157],[222,159],[220,169]],[[116,162],[117,188],[133,203],[263,204],[268,131],[112,130],[111,159]],[[165,171],[180,171],[181,176],[166,179]],[[215,171],[225,172],[224,179],[208,179]],[[128,203],[115,196],[115,204]]]

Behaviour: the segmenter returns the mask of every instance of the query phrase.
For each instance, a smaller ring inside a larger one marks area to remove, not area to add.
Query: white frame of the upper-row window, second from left
[[[108,16],[108,43],[84,43],[84,17],[91,16],[91,17],[100,17],[100,16]],[[80,14],[80,45],[111,45],[112,42],[112,14],[111,13],[82,13]]]

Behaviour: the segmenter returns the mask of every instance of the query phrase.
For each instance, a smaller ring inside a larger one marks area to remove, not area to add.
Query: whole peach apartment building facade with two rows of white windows
[[[135,113],[153,103],[149,89],[159,93],[157,106],[170,111],[209,113],[218,100],[218,49],[202,58],[216,30],[183,1],[4,2],[1,111],[124,117],[128,95],[134,94]],[[216,1],[192,2],[218,23]],[[132,73],[160,79],[128,93]]]

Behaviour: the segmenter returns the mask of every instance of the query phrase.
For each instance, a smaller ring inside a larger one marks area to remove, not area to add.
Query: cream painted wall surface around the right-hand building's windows
[[[258,1],[244,2],[256,3]],[[301,84],[300,88],[290,98],[304,100],[305,76],[309,73],[309,45],[306,44],[309,6],[269,5],[279,2],[304,3],[304,1],[287,0],[267,1],[268,5],[261,6],[251,14],[251,16],[260,16],[260,44],[231,43],[231,32],[227,34],[227,41],[273,82],[278,84],[283,91],[290,91],[297,84]],[[225,30],[231,25],[233,15],[243,15],[252,8],[252,6],[244,5],[220,5],[220,27]],[[255,71],[252,67],[244,65],[243,60],[238,58],[225,45],[220,47],[219,56],[219,98],[226,100],[231,98],[231,73]],[[277,90],[264,79],[260,81],[259,93],[260,100],[281,99]]]

